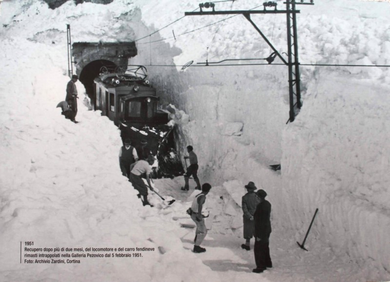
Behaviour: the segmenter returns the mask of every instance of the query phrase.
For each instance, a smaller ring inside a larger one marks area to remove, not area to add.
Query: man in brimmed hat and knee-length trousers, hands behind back
[[[243,211],[243,222],[244,222],[244,239],[245,244],[241,245],[241,248],[249,251],[251,249],[251,239],[254,234],[254,211],[256,210],[257,204],[260,202],[254,190],[256,190],[256,186],[254,182],[249,181],[248,185],[244,186],[247,189],[247,193],[242,196],[242,211]]]

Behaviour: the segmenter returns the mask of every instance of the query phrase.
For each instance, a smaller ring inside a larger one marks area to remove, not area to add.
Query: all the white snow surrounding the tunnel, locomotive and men
[[[216,5],[262,9],[249,0]],[[40,0],[1,1],[1,281],[390,280],[389,67],[302,65],[303,107],[286,125],[285,66],[196,64],[268,57],[271,48],[244,17],[191,16],[163,28],[197,7],[114,0],[67,1],[51,10]],[[322,0],[299,9],[302,64],[390,64],[389,2]],[[286,52],[285,17],[252,19]],[[155,180],[166,201],[151,193],[155,207],[143,207],[118,167],[117,127],[89,110],[80,82],[80,122],[60,115],[56,105],[69,81],[66,24],[73,42],[136,40],[138,55],[130,62],[148,68],[177,126],[180,156],[193,145],[200,181],[213,186],[206,253],[192,252],[195,231],[182,227],[194,225],[185,213],[196,195],[193,180],[189,193],[180,190],[183,178]],[[278,163],[281,171],[269,168]],[[253,252],[240,248],[241,197],[249,181],[267,191],[273,207],[274,267],[260,275],[251,272]],[[316,208],[306,252],[296,242],[302,243]],[[28,264],[20,243],[30,241],[42,248],[155,251],[141,252],[142,258]]]

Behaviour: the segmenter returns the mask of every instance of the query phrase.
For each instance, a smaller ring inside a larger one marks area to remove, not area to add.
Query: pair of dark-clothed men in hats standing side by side
[[[241,248],[251,250],[250,242],[254,237],[254,261],[256,268],[254,273],[262,273],[267,268],[272,267],[270,257],[270,235],[271,229],[271,203],[265,200],[267,193],[260,189],[254,192],[257,188],[254,182],[250,181],[245,185],[247,193],[242,197],[242,211],[244,223],[244,239],[245,243]]]

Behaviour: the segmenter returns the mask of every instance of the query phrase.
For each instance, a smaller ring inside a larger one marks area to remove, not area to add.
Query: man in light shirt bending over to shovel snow
[[[149,155],[147,160],[137,161],[131,172],[130,172],[130,182],[133,184],[134,189],[137,189],[139,194],[138,198],[143,196],[142,204],[151,205],[148,201],[148,188],[145,185],[145,182],[142,180],[141,175],[146,173],[146,181],[148,182],[150,191],[154,191],[152,184],[150,183],[150,173],[152,172],[151,165],[155,162],[155,158],[152,155]]]

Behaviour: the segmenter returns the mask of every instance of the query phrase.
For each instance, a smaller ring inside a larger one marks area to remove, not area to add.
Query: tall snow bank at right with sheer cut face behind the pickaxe
[[[329,71],[311,89],[315,94],[283,136],[283,187],[290,196],[284,204],[289,217],[307,222],[319,208],[318,238],[381,273],[390,266],[390,89]],[[292,222],[296,230],[301,224]]]

